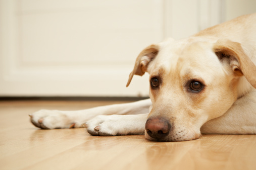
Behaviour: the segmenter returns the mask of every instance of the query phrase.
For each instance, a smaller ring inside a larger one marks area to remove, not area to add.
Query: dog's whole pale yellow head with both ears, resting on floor
[[[134,74],[145,72],[152,101],[145,125],[149,140],[197,139],[204,123],[222,116],[251,86],[256,88],[256,66],[230,40],[194,37],[148,46],[137,57],[127,86]]]

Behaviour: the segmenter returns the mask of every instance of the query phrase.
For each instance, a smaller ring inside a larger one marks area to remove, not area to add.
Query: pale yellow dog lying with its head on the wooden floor
[[[127,87],[133,75],[148,72],[150,99],[29,116],[41,129],[86,127],[91,135],[145,134],[152,141],[255,134],[255,63],[256,14],[251,14],[142,50]]]

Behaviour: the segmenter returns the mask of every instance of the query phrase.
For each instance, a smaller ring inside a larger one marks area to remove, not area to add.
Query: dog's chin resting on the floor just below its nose
[[[147,140],[151,140],[151,141],[157,141],[157,142],[178,142],[178,141],[188,141],[188,140],[195,140],[198,139],[201,136],[200,133],[187,133],[187,134],[169,134],[168,136],[161,138],[161,139],[156,139],[156,138],[152,138],[150,137],[146,131],[145,131],[145,138]]]

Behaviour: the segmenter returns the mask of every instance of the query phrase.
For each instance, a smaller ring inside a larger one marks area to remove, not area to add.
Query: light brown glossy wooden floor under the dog
[[[256,169],[256,135],[203,135],[184,142],[39,130],[28,114],[121,102],[0,102],[0,169]]]

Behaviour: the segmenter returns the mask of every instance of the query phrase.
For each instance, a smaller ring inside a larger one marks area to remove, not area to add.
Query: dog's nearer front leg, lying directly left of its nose
[[[96,116],[83,125],[88,133],[98,136],[144,134],[148,114]]]

